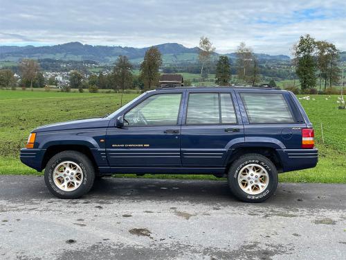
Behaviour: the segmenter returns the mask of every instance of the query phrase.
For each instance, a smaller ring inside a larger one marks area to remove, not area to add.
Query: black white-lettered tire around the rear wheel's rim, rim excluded
[[[244,166],[248,164],[259,164],[268,173],[268,184],[261,193],[246,193],[238,183],[238,176],[240,171]],[[276,191],[277,182],[277,169],[273,162],[271,162],[271,160],[267,157],[256,153],[242,155],[241,157],[236,159],[235,162],[233,162],[228,171],[228,185],[230,187],[231,193],[233,193],[236,198],[244,202],[263,202],[264,200],[270,198]]]

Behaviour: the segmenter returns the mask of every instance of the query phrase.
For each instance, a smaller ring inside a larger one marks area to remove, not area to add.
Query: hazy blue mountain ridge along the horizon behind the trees
[[[199,48],[188,48],[182,44],[169,42],[155,45],[163,54],[164,63],[170,62],[196,62]],[[19,61],[22,58],[53,58],[57,60],[95,60],[96,62],[114,62],[118,55],[127,55],[131,62],[143,60],[145,51],[149,47],[134,48],[129,46],[102,46],[89,45],[80,42],[67,42],[52,46],[0,46],[0,60]],[[235,53],[215,53],[215,56],[227,55],[235,59]],[[282,60],[291,58],[287,55],[269,55],[266,53],[255,53],[260,60]]]

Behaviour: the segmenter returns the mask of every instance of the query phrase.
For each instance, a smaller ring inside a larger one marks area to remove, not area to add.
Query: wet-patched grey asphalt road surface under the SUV
[[[346,185],[279,184],[261,204],[226,182],[105,178],[60,200],[0,176],[0,259],[346,259]]]

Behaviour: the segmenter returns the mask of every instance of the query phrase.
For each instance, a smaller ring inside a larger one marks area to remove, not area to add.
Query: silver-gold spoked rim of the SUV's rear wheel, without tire
[[[239,171],[238,184],[248,194],[260,194],[268,187],[268,172],[260,164],[248,164]]]

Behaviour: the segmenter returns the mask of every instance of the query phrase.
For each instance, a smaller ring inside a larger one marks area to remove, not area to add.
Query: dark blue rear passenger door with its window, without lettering
[[[244,142],[244,127],[232,89],[188,90],[181,125],[183,167],[224,167],[228,149]]]

